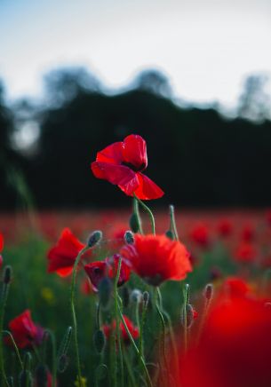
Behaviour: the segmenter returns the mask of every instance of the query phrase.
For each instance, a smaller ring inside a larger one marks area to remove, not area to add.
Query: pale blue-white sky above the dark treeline
[[[108,89],[156,68],[179,99],[231,107],[245,76],[271,74],[270,36],[270,0],[0,0],[0,78],[17,99],[57,67]]]

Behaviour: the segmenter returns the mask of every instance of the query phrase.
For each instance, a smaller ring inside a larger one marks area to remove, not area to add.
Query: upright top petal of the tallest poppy
[[[146,141],[139,135],[130,135],[124,138],[124,162],[132,164],[137,170],[147,167]]]

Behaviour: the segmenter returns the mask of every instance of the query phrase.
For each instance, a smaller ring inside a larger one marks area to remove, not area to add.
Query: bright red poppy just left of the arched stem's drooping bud
[[[78,241],[68,228],[65,228],[56,246],[48,252],[48,272],[57,272],[66,277],[73,271],[76,257],[85,245]]]

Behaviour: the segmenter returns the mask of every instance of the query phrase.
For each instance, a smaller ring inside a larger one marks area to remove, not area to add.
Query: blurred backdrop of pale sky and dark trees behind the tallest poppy
[[[269,0],[0,3],[0,209],[129,206],[96,153],[147,140],[155,206],[271,206]]]

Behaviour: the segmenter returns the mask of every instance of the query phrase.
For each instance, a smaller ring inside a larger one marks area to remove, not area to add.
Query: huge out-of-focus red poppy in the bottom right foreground
[[[199,342],[179,356],[175,375],[183,387],[268,387],[270,359],[271,309],[236,297],[212,308]]]

